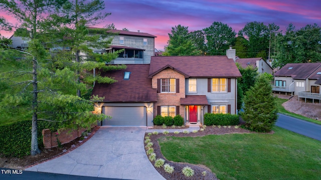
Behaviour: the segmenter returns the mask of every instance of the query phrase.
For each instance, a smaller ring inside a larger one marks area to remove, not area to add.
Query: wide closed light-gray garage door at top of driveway
[[[146,107],[104,106],[102,113],[110,115],[110,120],[104,120],[102,125],[113,126],[146,126]]]

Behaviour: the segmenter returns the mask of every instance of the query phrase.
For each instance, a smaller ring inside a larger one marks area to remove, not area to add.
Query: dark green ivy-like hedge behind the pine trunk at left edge
[[[19,121],[0,126],[0,155],[6,157],[23,157],[30,155],[31,150],[31,120]],[[38,143],[43,146],[42,129],[56,131],[57,123],[38,122]]]

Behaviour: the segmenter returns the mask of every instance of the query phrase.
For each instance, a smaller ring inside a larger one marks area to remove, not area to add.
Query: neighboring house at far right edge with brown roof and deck
[[[273,91],[321,99],[321,63],[286,64],[274,74]]]

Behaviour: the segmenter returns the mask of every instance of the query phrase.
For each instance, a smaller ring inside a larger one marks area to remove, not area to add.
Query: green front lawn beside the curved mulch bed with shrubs
[[[162,137],[164,156],[204,164],[219,179],[321,179],[321,142],[275,127],[274,134]]]

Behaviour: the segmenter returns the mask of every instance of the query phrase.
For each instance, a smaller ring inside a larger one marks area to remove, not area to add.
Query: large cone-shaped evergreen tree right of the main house
[[[253,131],[269,132],[277,119],[275,97],[271,94],[272,87],[265,76],[260,75],[254,86],[244,97],[242,118],[245,126]]]

